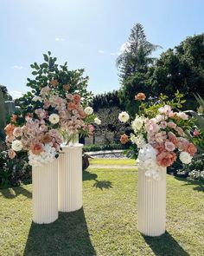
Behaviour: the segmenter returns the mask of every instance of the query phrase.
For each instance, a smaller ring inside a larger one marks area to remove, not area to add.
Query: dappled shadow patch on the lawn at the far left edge
[[[1,189],[1,193],[3,194],[3,197],[7,199],[13,199],[16,198],[16,196],[22,194],[28,198],[32,198],[32,193],[29,192],[24,187],[9,187],[9,188],[3,188]]]

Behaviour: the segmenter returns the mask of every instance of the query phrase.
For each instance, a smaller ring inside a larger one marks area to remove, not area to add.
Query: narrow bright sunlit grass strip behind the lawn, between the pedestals
[[[118,165],[118,166],[135,166],[136,161],[134,159],[106,159],[106,158],[94,158],[89,160],[92,165]]]

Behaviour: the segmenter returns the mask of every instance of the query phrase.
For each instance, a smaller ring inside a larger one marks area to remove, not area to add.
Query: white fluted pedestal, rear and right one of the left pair
[[[82,147],[83,144],[62,146],[58,169],[58,208],[61,212],[73,212],[83,205]]]

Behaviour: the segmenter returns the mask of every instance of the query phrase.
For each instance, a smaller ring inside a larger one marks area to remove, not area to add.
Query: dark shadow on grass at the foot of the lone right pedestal
[[[143,239],[157,256],[189,256],[182,246],[168,233],[159,237],[144,236]]]

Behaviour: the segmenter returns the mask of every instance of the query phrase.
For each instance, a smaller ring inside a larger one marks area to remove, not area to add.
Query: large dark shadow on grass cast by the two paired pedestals
[[[96,255],[83,208],[60,213],[59,219],[51,224],[32,222],[23,255]]]

